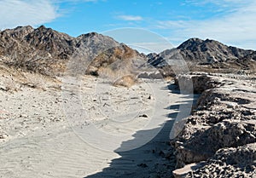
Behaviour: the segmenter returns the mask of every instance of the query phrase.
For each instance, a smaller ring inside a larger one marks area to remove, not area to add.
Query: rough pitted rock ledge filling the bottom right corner
[[[256,143],[223,148],[209,158],[201,168],[190,171],[185,178],[256,176]]]

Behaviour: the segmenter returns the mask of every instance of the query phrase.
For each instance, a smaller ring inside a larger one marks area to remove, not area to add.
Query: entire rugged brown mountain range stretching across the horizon
[[[39,26],[36,29],[32,26],[18,26],[15,29],[0,32],[0,64],[20,70],[39,72],[44,75],[59,75],[65,72],[67,61],[77,49],[90,56],[90,66],[86,73],[93,75],[97,75],[99,70],[108,68],[116,61],[123,63],[123,66],[128,63],[143,65],[136,59],[143,60],[143,63],[148,62],[160,70],[163,69],[166,75],[169,75],[172,74],[172,68],[166,67],[168,66],[166,58],[173,50],[178,51],[190,70],[192,68],[201,70],[202,67],[208,71],[221,69],[223,72],[225,70],[232,72],[233,69],[256,70],[255,51],[230,47],[210,39],[190,38],[180,44],[177,49],[166,49],[160,54],[146,56],[131,49],[125,43],[118,43],[112,37],[96,32],[71,37],[45,26]],[[128,59],[130,59],[129,62]],[[114,66],[113,70],[118,66]]]

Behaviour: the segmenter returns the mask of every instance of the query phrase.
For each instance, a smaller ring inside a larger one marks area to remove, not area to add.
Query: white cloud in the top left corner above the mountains
[[[38,26],[58,17],[57,9],[50,0],[2,0],[0,7],[0,29]]]

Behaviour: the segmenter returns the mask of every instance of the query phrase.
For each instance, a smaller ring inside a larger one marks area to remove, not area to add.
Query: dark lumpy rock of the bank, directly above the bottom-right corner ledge
[[[188,134],[186,125],[182,135],[176,144],[178,166],[207,160],[218,149],[231,146],[242,146],[256,141],[256,121],[241,122],[224,120],[223,122],[207,128],[194,127]],[[185,135],[189,141],[185,140]]]

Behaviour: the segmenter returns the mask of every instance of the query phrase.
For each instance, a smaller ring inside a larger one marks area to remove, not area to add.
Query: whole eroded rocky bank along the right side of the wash
[[[255,81],[201,75],[179,80],[184,78],[193,78],[195,92],[202,94],[172,141],[177,168],[207,161],[187,177],[256,176]]]

